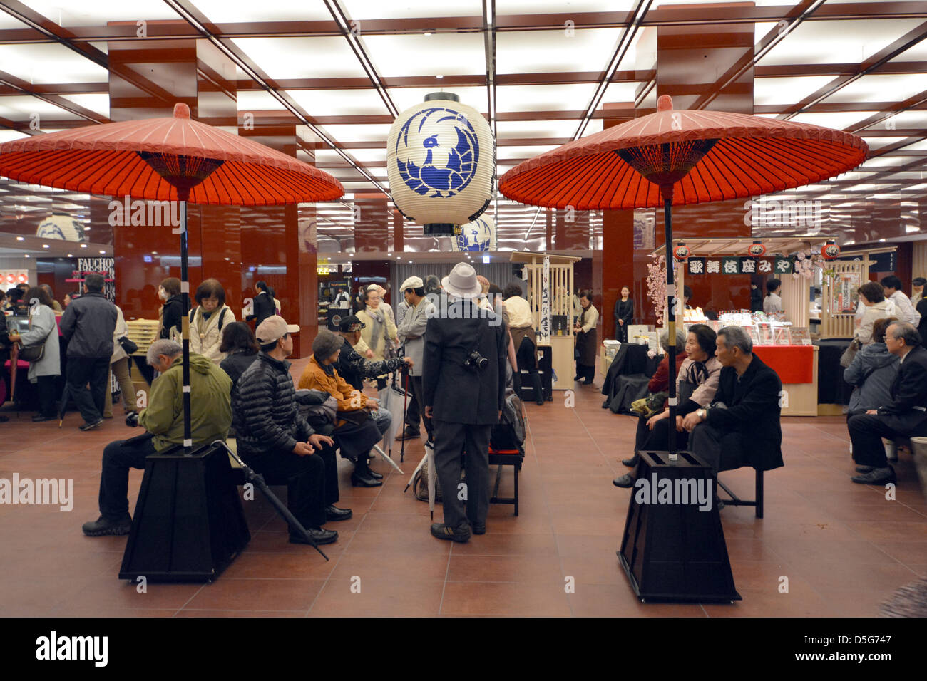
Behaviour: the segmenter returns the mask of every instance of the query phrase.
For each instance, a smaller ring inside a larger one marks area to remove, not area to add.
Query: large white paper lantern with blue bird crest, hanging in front
[[[458,233],[489,206],[496,148],[489,123],[450,93],[426,95],[389,129],[393,203],[426,234]]]

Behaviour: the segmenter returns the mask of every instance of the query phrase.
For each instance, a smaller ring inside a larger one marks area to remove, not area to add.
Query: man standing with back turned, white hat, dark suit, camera
[[[431,534],[465,542],[471,527],[473,534],[486,532],[489,433],[502,415],[508,336],[500,316],[476,305],[482,287],[472,266],[457,263],[441,285],[447,296],[425,325],[422,371],[422,401],[425,418],[433,419],[444,504],[444,523],[433,524]]]

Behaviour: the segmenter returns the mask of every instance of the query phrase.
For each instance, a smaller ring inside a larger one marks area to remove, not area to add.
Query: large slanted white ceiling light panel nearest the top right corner
[[[923,19],[803,21],[768,54],[760,66],[860,63]],[[762,35],[757,32],[757,39]]]

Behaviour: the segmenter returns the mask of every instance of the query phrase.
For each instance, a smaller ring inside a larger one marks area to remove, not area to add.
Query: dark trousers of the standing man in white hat
[[[474,521],[485,523],[489,513],[489,432],[492,426],[438,419],[434,420],[434,426],[435,468],[441,483],[444,523],[451,527]],[[464,449],[466,486],[460,488]]]

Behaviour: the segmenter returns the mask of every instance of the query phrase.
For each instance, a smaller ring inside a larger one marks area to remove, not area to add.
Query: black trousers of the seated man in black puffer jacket
[[[324,524],[326,465],[319,451],[304,457],[291,451],[275,451],[248,458],[243,455],[242,459],[263,475],[268,485],[286,485],[286,508],[303,527]],[[294,533],[292,527],[290,533]]]

